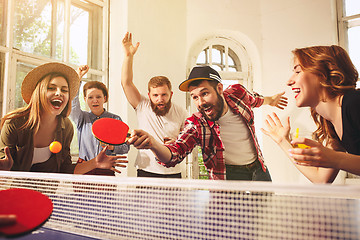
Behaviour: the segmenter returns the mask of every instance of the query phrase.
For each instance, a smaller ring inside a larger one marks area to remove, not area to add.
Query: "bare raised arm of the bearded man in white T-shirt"
[[[136,108],[141,101],[141,95],[133,82],[133,61],[134,55],[140,45],[138,42],[134,47],[132,44],[132,35],[127,32],[122,40],[125,57],[121,70],[121,86],[124,89],[125,96],[133,108]]]

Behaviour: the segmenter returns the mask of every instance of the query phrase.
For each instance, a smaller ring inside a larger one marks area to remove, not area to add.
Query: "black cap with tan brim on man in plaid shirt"
[[[184,92],[189,91],[189,84],[196,80],[212,80],[221,83],[221,77],[217,71],[212,69],[210,66],[198,66],[194,67],[188,79],[180,83],[179,89]]]

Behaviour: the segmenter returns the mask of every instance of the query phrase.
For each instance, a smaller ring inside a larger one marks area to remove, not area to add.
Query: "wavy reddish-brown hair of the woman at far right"
[[[330,99],[355,89],[359,74],[348,53],[342,47],[313,46],[295,49],[293,54],[303,71],[318,76],[320,85]],[[330,121],[323,118],[315,109],[311,109],[311,116],[317,126],[314,132],[317,140],[327,144],[332,139],[336,139],[336,133]]]

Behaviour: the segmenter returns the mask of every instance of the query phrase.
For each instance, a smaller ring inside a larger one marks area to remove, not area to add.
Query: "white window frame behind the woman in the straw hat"
[[[101,56],[101,69],[90,69],[89,73],[101,77],[102,81],[108,85],[108,0],[86,0],[89,3],[96,4],[103,8],[103,31],[102,31],[102,56]],[[6,41],[5,46],[0,46],[0,52],[5,54],[5,63],[4,63],[4,81],[3,81],[3,105],[2,105],[2,116],[14,109],[14,99],[15,99],[15,83],[16,83],[16,63],[17,61],[41,65],[43,63],[57,61],[63,62],[72,66],[74,69],[77,68],[76,65],[69,63],[69,48],[70,48],[70,36],[69,36],[69,26],[70,26],[70,7],[71,5],[80,6],[84,5],[80,0],[64,0],[65,7],[65,21],[64,24],[64,47],[63,47],[63,60],[59,61],[57,59],[42,57],[39,55],[26,53],[13,48],[13,24],[14,24],[14,3],[15,0],[8,0],[7,5],[7,23],[4,30],[6,31]],[[91,23],[89,23],[91,24]],[[91,33],[89,33],[90,35]],[[89,44],[91,48],[91,44]],[[88,59],[91,57],[91,52],[88,55]],[[87,64],[87,63],[84,63]]]

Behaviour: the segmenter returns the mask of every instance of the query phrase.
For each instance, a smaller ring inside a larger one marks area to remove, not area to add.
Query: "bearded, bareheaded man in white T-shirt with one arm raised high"
[[[148,98],[141,95],[133,83],[133,58],[139,47],[132,44],[131,33],[122,41],[125,58],[122,66],[121,85],[130,105],[135,109],[138,127],[149,132],[162,143],[175,141],[184,126],[187,112],[171,102],[171,82],[165,76],[156,76],[148,83]],[[167,168],[160,165],[152,151],[139,150],[135,166],[138,177],[181,178],[183,166]]]

